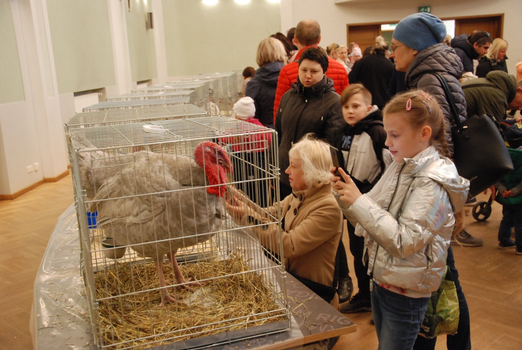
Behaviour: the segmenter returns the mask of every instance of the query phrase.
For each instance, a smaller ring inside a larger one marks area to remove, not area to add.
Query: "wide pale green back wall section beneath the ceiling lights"
[[[279,3],[252,0],[163,0],[169,76],[257,67],[257,45],[280,26]]]

